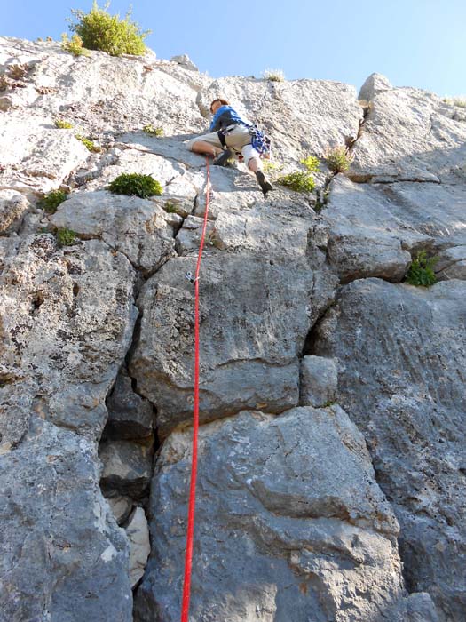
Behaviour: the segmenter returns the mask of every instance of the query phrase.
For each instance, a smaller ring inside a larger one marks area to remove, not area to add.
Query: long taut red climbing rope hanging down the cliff
[[[189,596],[191,592],[191,570],[193,567],[193,539],[194,539],[194,509],[196,505],[196,476],[197,476],[197,433],[199,429],[199,270],[201,268],[202,249],[207,228],[209,214],[210,169],[209,157],[207,162],[207,195],[204,224],[201,233],[201,243],[197,256],[196,273],[194,275],[194,424],[193,424],[193,459],[191,463],[191,484],[189,489],[189,508],[187,514],[185,580],[183,583],[183,602],[181,607],[181,622],[188,622]]]

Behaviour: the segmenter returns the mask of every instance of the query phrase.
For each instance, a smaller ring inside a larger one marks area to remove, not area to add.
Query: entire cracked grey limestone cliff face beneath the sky
[[[11,38],[0,84],[1,622],[130,622],[131,586],[138,622],[179,618],[186,273],[208,189],[193,620],[463,622],[458,110],[379,75],[359,102],[347,84]],[[351,169],[322,164],[316,195],[265,200],[243,164],[207,188],[183,143],[218,96],[265,127],[281,171],[344,144]],[[162,196],[112,195],[122,172]],[[59,247],[57,227],[79,239]],[[438,256],[431,290],[402,283],[419,251]]]

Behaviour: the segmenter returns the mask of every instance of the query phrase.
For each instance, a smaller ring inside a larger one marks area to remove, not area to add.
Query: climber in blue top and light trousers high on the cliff
[[[251,144],[250,124],[241,119],[241,116],[230,106],[229,101],[221,98],[212,101],[210,112],[213,114],[209,127],[210,133],[189,140],[187,148],[196,154],[212,156],[213,163],[217,166],[225,166],[235,154],[241,154],[249,171],[255,173],[262,192],[267,195],[273,188],[262,171],[260,154]]]

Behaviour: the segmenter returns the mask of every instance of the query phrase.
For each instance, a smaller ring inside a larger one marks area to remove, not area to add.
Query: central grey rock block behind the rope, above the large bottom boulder
[[[201,340],[204,421],[297,405],[298,357],[337,283],[312,240],[318,220],[309,206],[284,198],[238,211],[222,201],[217,196],[223,211],[209,224],[201,275],[201,330],[211,335]],[[162,436],[192,416],[194,326],[186,309],[194,286],[186,274],[195,272],[200,229],[199,217],[186,219],[177,237],[186,257],[162,267],[138,299],[141,331],[130,373],[156,405]]]

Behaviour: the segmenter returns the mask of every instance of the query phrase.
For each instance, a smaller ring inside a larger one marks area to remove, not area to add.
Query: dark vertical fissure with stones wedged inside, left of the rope
[[[136,300],[142,285],[162,266],[150,274],[133,267],[137,275]],[[136,562],[130,561],[133,601],[150,554],[150,486],[155,456],[162,444],[155,426],[156,407],[139,393],[138,380],[130,373],[130,359],[138,345],[141,321],[142,312],[139,311],[124,363],[107,394],[107,424],[99,439],[99,457],[103,462],[100,489],[115,521],[126,531],[131,557],[136,559]]]

